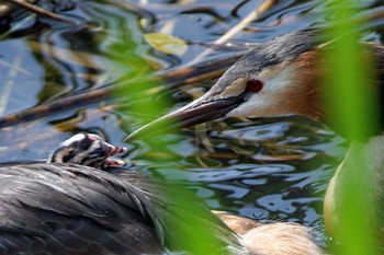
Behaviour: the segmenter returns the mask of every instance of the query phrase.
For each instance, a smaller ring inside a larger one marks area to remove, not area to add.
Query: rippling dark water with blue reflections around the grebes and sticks
[[[61,1],[56,10],[75,25],[29,13],[12,18],[8,24],[11,33],[3,34],[0,40],[0,115],[91,91],[123,73],[138,77],[188,63],[260,3],[74,0]],[[48,1],[39,4],[54,8]],[[361,9],[380,4],[363,1]],[[323,9],[321,1],[278,1],[230,42],[264,42],[320,26],[327,19],[320,15]],[[159,53],[143,38],[151,32],[182,38],[188,43],[187,53]],[[366,32],[364,39],[380,43],[381,31]],[[135,44],[133,50],[127,49],[126,42]],[[215,55],[225,51],[219,48]],[[142,69],[135,63],[139,57],[147,61]],[[190,188],[212,209],[255,219],[301,222],[321,233],[324,193],[342,159],[346,142],[320,124],[300,116],[246,123],[224,119],[179,135],[169,134],[171,142],[162,151],[143,141],[123,143],[128,132],[148,119],[191,101],[188,91],[192,88],[204,91],[213,82],[143,96],[149,102],[171,97],[172,103],[158,108],[158,113],[131,111],[140,105],[137,98],[115,100],[3,128],[0,161],[47,158],[53,147],[71,135],[97,132],[115,144],[127,146],[131,152],[125,159],[133,169],[166,179],[190,181]],[[127,105],[125,111],[118,111],[122,105]],[[318,241],[323,244],[325,237],[320,234]]]

